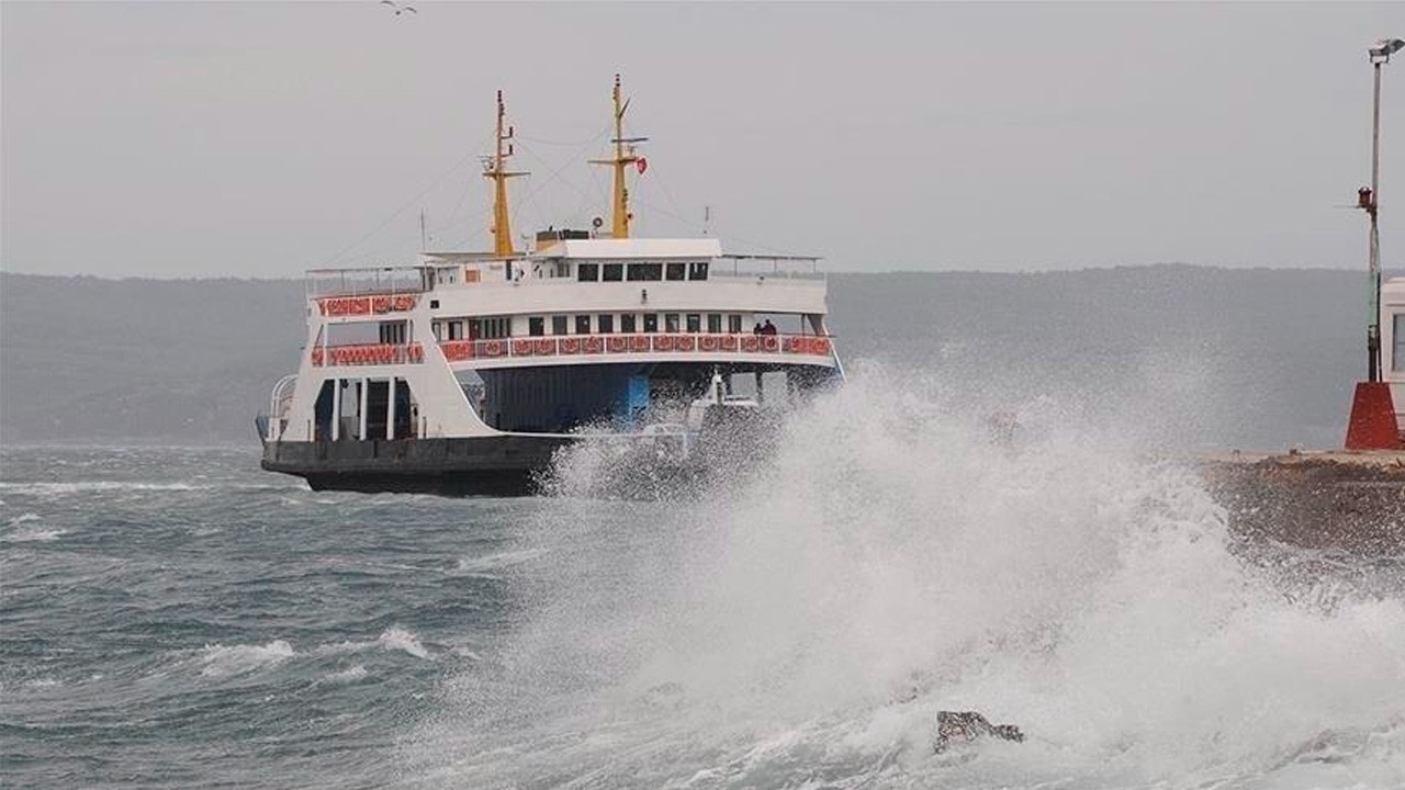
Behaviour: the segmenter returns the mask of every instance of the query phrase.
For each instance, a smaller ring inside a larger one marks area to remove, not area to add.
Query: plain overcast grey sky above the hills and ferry
[[[514,232],[584,225],[620,70],[639,235],[711,205],[729,249],[832,270],[1364,268],[1366,46],[1405,38],[1405,4],[414,6],[4,3],[0,266],[409,260],[422,208],[486,247],[497,89]],[[1384,105],[1399,267],[1405,58]]]

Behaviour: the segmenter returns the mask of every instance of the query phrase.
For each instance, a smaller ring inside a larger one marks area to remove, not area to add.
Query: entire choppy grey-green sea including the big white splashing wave
[[[1238,545],[1107,426],[978,415],[871,380],[648,503],[4,448],[0,784],[1405,786],[1405,558]],[[947,708],[1028,739],[933,753]]]

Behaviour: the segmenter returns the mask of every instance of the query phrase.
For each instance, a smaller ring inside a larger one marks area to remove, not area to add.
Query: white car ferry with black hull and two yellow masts
[[[516,153],[497,94],[492,252],[306,277],[296,374],[257,419],[264,470],[312,489],[520,495],[596,441],[672,468],[754,439],[777,403],[843,378],[819,259],[726,254],[715,238],[635,238],[629,180],[648,163],[614,90],[610,228],[513,243]],[[736,430],[742,426],[740,430]],[[752,427],[746,427],[752,426]]]

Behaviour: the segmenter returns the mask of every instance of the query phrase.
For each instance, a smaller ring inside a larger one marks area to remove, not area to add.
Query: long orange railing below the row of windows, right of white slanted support
[[[451,363],[514,357],[597,357],[656,353],[829,357],[833,354],[833,336],[701,332],[559,335],[495,340],[443,340],[440,350]]]

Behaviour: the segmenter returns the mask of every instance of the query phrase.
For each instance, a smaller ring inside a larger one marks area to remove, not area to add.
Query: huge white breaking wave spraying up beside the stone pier
[[[992,441],[993,408],[880,371],[697,496],[554,500],[502,661],[406,746],[417,782],[1405,780],[1399,597],[1245,561],[1196,474],[1106,420],[1000,409]],[[563,457],[558,491],[608,461]],[[1028,741],[936,753],[939,710]]]

